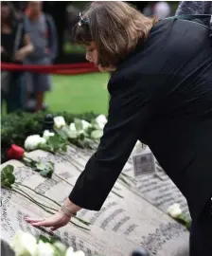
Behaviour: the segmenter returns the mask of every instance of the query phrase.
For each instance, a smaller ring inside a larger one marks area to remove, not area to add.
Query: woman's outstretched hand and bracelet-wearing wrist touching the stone
[[[76,213],[81,209],[79,206],[72,203],[68,198],[65,200],[62,208],[72,213]],[[33,227],[48,227],[51,228],[52,231],[64,227],[68,224],[70,219],[71,215],[67,214],[67,212],[63,212],[63,210],[59,210],[53,216],[44,219],[32,219],[25,217],[26,222],[30,223]]]

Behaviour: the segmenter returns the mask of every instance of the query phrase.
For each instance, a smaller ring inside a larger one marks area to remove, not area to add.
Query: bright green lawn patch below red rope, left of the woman
[[[94,73],[77,76],[52,76],[52,91],[45,102],[50,111],[70,113],[95,112],[107,114],[109,74]]]

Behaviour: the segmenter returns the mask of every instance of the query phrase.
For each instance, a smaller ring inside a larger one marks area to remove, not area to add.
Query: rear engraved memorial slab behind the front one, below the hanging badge
[[[80,171],[83,170],[84,165],[94,151],[80,150],[77,147],[68,147],[67,153],[63,156],[67,161],[78,161]],[[163,171],[155,159],[156,174],[141,175],[134,177],[132,156],[126,163],[122,173],[129,174],[132,177],[132,190],[140,194],[143,198],[148,200],[150,204],[167,212],[168,207],[173,203],[181,204],[182,210],[189,217],[189,211],[186,203],[186,198],[178,190],[175,184],[170,180],[168,175]]]

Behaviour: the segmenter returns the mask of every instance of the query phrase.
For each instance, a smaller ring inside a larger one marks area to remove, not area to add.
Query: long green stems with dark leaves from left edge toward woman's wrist
[[[50,197],[44,195],[43,193],[36,192],[32,188],[29,188],[28,186],[26,186],[20,182],[17,182],[15,179],[15,175],[14,175],[14,166],[12,166],[10,164],[1,170],[1,188],[9,190],[10,192],[16,192],[16,193],[24,196],[27,200],[34,203],[39,208],[41,208],[42,210],[44,210],[45,212],[50,213],[50,214],[54,214],[59,210],[59,208],[60,209],[62,208],[62,205],[60,205],[58,202],[51,199]],[[33,194],[30,195],[29,192],[32,192]],[[36,199],[34,196],[35,194],[37,195]],[[51,207],[40,202],[39,199],[37,199],[38,197],[41,200],[42,199],[45,200],[45,202],[47,199],[49,201],[49,203],[51,203]],[[55,205],[55,207],[52,207],[52,203]],[[89,222],[84,221],[83,219],[80,219],[78,216],[73,216],[73,218],[78,220],[80,223],[82,223],[86,227],[88,227],[90,225]],[[73,225],[75,225],[78,228],[90,230],[90,229],[87,229],[85,227],[82,227],[82,226],[76,224],[75,222],[73,222],[71,220],[70,220],[70,223],[72,223]]]

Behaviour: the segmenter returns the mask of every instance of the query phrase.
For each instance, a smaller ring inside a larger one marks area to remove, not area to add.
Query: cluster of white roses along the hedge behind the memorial
[[[31,135],[26,137],[25,149],[27,152],[41,149],[50,153],[66,152],[70,143],[81,148],[97,148],[99,138],[103,135],[103,128],[107,119],[99,115],[97,119],[88,122],[84,119],[74,119],[67,124],[63,117],[54,118],[54,132],[44,130],[43,137]]]

